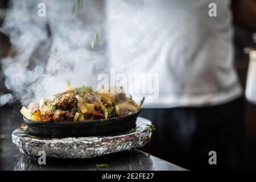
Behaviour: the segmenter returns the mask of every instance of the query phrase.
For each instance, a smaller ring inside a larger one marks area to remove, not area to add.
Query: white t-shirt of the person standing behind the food
[[[212,2],[216,17],[208,14]],[[159,97],[146,97],[144,107],[218,105],[241,96],[229,0],[106,3],[109,67],[159,74]]]

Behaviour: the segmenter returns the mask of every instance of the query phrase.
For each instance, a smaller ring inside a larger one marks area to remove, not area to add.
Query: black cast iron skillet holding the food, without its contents
[[[38,137],[92,137],[128,131],[141,110],[123,117],[80,122],[35,122],[23,117],[31,135]]]

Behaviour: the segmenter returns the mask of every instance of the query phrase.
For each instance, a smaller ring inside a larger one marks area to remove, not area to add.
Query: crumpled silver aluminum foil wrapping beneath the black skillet
[[[26,130],[13,131],[13,143],[24,154],[38,155],[39,151],[46,152],[53,158],[93,158],[96,156],[112,154],[133,148],[143,147],[152,134],[151,122],[138,117],[137,130],[134,133],[126,133],[79,138],[42,138],[34,137]]]

